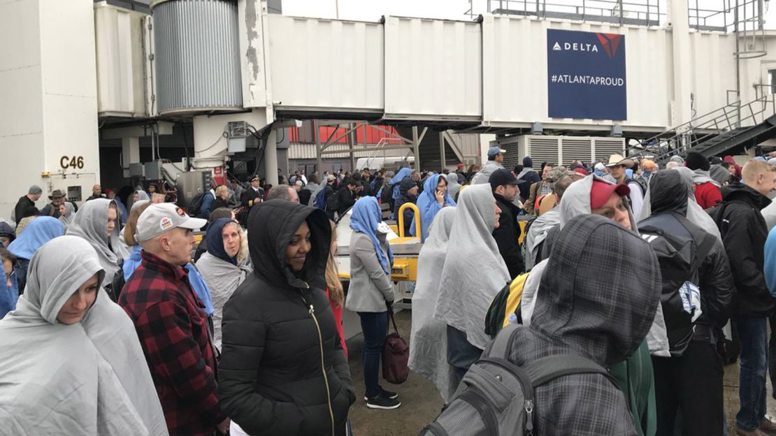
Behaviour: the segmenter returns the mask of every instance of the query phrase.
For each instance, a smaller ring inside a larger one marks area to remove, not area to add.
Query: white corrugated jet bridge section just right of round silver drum
[[[383,110],[383,26],[272,14],[275,109]]]

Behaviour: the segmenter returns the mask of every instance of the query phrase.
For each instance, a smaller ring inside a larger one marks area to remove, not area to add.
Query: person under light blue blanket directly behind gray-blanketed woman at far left
[[[24,292],[27,282],[27,266],[29,259],[38,248],[49,240],[62,236],[64,228],[53,216],[38,216],[30,221],[26,229],[9,244],[8,251],[16,256],[16,264],[13,271],[16,275],[16,283],[19,285],[19,295]]]

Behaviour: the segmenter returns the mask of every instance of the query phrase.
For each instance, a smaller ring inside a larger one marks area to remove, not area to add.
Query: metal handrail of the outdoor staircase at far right
[[[755,89],[764,88],[765,86],[768,85],[755,85]],[[680,124],[654,137],[643,140],[643,151],[631,157],[639,157],[640,154],[650,150],[656,150],[656,153],[654,153],[656,160],[676,154],[684,154],[705,140],[740,128],[742,124],[751,122],[752,126],[757,125],[763,122],[768,115],[776,113],[774,95],[770,93],[760,95],[760,92],[757,92],[757,95],[759,95],[757,99],[751,102],[743,105],[736,102],[722,106],[715,111],[698,116],[688,123]],[[770,114],[768,114],[769,107],[771,109]],[[741,116],[743,112],[748,112],[748,114]],[[703,120],[707,117],[711,118]],[[662,152],[663,149],[667,149],[667,151]]]

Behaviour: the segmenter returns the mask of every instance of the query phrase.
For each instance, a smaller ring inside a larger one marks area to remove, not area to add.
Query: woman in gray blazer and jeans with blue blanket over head
[[[374,409],[396,409],[401,405],[397,394],[383,389],[378,381],[388,310],[392,310],[394,299],[390,281],[393,253],[386,240],[387,227],[380,219],[377,199],[364,197],[355,202],[350,217],[350,288],[345,308],[361,318],[366,407]]]

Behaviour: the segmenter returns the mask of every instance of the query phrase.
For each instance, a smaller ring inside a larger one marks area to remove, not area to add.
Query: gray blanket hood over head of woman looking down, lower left
[[[101,283],[105,272],[97,253],[86,240],[74,236],[50,240],[29,261],[27,285],[19,299],[19,314],[38,316],[49,324],[59,323],[57,315],[62,306],[95,274],[98,275],[97,283]]]

